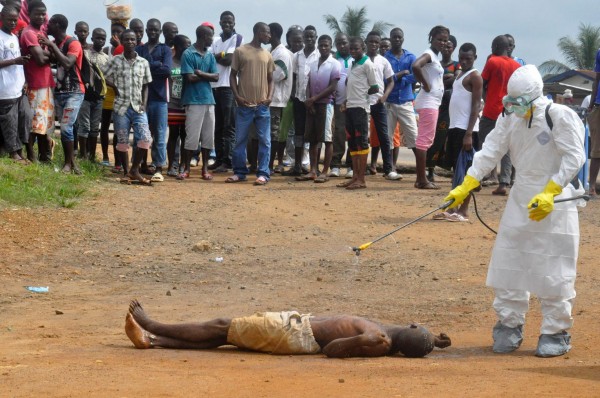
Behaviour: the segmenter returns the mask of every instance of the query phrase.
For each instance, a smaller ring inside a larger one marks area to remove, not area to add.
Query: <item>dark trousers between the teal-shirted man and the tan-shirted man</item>
[[[215,152],[217,163],[231,167],[235,145],[235,101],[230,87],[213,89],[215,96]]]

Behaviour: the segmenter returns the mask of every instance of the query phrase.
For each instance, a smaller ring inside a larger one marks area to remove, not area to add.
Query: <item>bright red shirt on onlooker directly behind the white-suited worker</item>
[[[487,94],[485,97],[485,105],[483,106],[483,116],[488,119],[497,120],[502,113],[502,98],[506,95],[508,79],[512,73],[520,68],[521,65],[514,59],[506,55],[491,55],[483,71],[481,77],[487,81]]]

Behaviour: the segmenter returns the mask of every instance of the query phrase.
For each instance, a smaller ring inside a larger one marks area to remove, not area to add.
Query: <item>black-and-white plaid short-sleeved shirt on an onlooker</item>
[[[117,55],[106,65],[104,77],[112,80],[119,89],[113,108],[118,115],[124,115],[130,106],[137,113],[143,112],[142,88],[152,81],[148,61],[136,56],[131,62],[123,54]]]

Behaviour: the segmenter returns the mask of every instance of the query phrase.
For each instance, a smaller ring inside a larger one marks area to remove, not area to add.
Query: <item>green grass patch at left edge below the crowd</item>
[[[73,208],[101,182],[107,171],[96,163],[79,161],[83,175],[64,174],[62,149],[57,143],[56,156],[50,164],[22,166],[0,158],[0,208],[7,206],[56,206]]]

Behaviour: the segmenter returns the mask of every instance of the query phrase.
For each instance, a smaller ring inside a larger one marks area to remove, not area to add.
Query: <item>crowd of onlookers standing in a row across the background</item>
[[[315,183],[345,176],[337,186],[361,189],[367,173],[402,179],[396,164],[405,146],[415,156],[415,188],[438,189],[434,167],[456,169],[459,155],[481,147],[503,111],[508,79],[524,65],[512,56],[514,38],[500,35],[480,73],[473,44],[453,59],[457,40],[444,26],[431,30],[421,54],[403,48],[400,28],[389,37],[330,37],[311,25],[257,23],[248,40],[230,11],[220,15],[220,32],[205,22],[191,39],[174,22],[122,18],[108,33],[91,30],[89,42],[86,22],[71,37],[67,18],[49,17],[42,1],[3,4],[5,152],[19,163],[50,162],[56,119],[64,172],[80,173],[77,157],[96,161],[100,141],[98,161],[142,184],[164,174],[185,180],[201,163],[204,180],[230,171],[226,182],[255,173],[256,185],[276,173]],[[500,170],[484,184],[505,195],[509,154]]]

